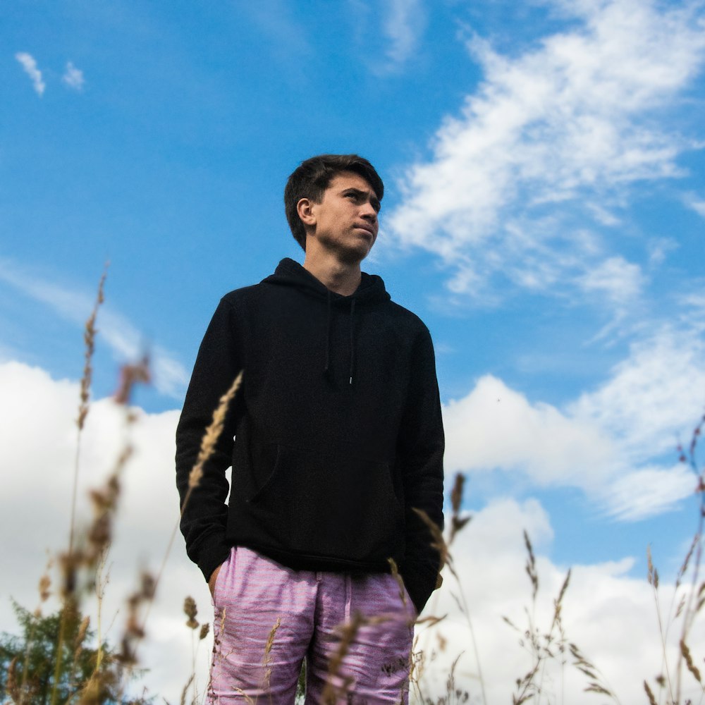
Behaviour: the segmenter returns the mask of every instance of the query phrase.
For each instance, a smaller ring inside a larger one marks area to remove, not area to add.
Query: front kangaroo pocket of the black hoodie
[[[282,445],[267,451],[259,458],[271,467],[256,469],[266,479],[254,494],[238,498],[233,486],[238,533],[301,556],[365,564],[398,555],[404,513],[386,462]]]

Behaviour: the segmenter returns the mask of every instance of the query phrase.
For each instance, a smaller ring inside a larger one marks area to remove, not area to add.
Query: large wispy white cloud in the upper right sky
[[[656,109],[701,69],[699,5],[561,7],[582,23],[516,58],[470,41],[484,81],[443,121],[431,159],[407,168],[386,217],[400,245],[441,257],[455,293],[487,295],[507,281],[564,290],[599,276],[618,243],[592,233],[586,247],[575,231],[591,219],[613,227],[627,187],[679,176],[676,157],[693,147]]]

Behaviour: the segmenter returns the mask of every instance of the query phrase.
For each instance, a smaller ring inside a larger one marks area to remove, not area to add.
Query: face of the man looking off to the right
[[[311,204],[314,239],[335,252],[341,262],[361,262],[377,239],[379,199],[367,180],[341,171],[331,180],[320,203]]]

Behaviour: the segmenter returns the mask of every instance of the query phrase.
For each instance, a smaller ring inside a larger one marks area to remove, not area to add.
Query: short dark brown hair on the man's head
[[[284,210],[291,234],[304,252],[306,251],[306,228],[296,209],[298,202],[302,198],[309,198],[314,203],[320,203],[323,200],[324,191],[341,171],[360,174],[372,186],[380,201],[384,196],[384,183],[374,166],[357,154],[319,154],[317,157],[302,161],[286,182]]]

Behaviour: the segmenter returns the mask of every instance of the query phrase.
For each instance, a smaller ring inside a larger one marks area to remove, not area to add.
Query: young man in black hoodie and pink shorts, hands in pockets
[[[293,703],[303,658],[309,703],[407,699],[410,623],[439,572],[415,509],[442,527],[443,427],[428,329],[360,271],[383,195],[357,155],[302,162],[284,202],[303,266],[225,295],[201,344],[176,436],[182,502],[243,370],[181,522],[216,611],[212,703]]]

